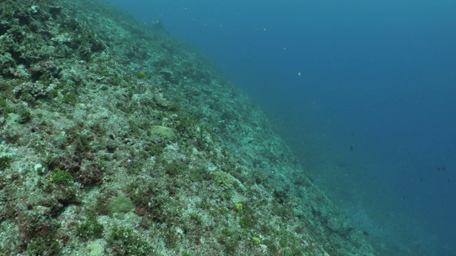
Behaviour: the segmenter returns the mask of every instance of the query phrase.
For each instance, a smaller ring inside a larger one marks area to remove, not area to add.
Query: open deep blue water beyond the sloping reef
[[[249,92],[379,251],[456,255],[456,1],[111,1]]]

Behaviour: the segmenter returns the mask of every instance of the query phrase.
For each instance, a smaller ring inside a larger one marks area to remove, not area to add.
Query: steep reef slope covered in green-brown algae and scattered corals
[[[164,31],[104,1],[0,11],[0,255],[375,255]]]

